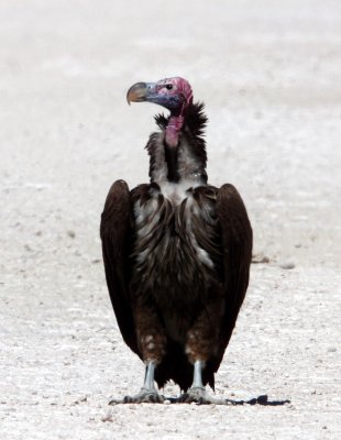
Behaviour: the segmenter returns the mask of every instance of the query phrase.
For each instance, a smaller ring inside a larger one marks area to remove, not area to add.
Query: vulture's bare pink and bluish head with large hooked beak
[[[184,114],[193,102],[189,82],[180,77],[165,78],[157,82],[136,82],[127,94],[130,102],[154,102],[170,110],[173,114]]]

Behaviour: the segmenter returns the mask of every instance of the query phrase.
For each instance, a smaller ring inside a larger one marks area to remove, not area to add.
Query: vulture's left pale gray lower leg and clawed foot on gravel
[[[147,363],[145,369],[144,384],[140,393],[138,393],[135,396],[125,396],[123,400],[112,399],[109,402],[109,405],[143,403],[162,404],[164,402],[164,397],[157,393],[154,384],[155,366],[156,364],[153,361]]]

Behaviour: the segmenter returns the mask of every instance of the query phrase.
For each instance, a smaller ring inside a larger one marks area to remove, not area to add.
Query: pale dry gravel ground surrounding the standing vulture
[[[341,438],[340,1],[2,1],[0,42],[0,439]],[[143,366],[99,218],[114,179],[147,179],[157,109],[125,91],[170,75],[205,100],[210,182],[240,189],[270,258],[217,394],[290,404],[107,405]]]

